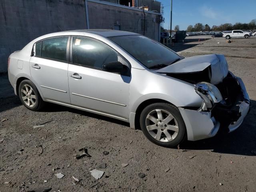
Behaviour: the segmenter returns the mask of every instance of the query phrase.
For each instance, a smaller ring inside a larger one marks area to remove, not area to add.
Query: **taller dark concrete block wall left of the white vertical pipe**
[[[84,0],[0,0],[0,72],[31,40],[75,29],[86,29]]]

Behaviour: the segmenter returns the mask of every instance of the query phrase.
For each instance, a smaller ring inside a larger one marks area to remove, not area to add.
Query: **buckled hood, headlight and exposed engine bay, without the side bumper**
[[[248,113],[250,99],[242,80],[228,71],[224,55],[210,54],[184,58],[156,72],[194,84],[202,106],[224,127],[241,124]]]

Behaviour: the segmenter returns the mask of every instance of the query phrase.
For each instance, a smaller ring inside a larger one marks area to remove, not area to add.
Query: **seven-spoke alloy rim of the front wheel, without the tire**
[[[179,126],[174,116],[162,109],[152,110],[146,117],[148,133],[160,142],[170,142],[176,138]]]

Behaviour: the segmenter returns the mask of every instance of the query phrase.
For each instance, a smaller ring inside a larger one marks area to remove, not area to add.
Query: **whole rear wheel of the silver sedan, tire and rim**
[[[38,111],[42,109],[45,104],[35,84],[30,80],[23,80],[20,82],[19,97],[22,104],[32,111]]]

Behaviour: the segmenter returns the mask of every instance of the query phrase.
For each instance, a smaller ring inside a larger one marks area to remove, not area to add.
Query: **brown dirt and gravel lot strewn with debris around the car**
[[[172,49],[186,57],[224,54],[229,69],[244,80],[251,111],[235,132],[186,142],[180,149],[156,146],[142,131],[103,116],[54,104],[42,112],[29,111],[8,91],[7,76],[0,75],[0,191],[255,191],[256,38],[232,43],[209,38],[188,37]],[[48,123],[33,128],[44,122]],[[82,147],[92,157],[76,159]],[[102,163],[106,168],[98,168]],[[104,171],[103,177],[94,179],[93,169]],[[56,173],[64,177],[57,178]],[[139,173],[146,176],[140,178]]]

